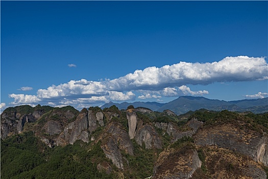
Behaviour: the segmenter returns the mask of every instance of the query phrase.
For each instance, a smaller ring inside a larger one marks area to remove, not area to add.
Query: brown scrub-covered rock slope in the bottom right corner
[[[253,161],[247,155],[218,146],[199,147],[198,151],[204,161],[203,171],[198,169],[192,179],[207,178],[207,176],[211,178],[266,178],[266,173],[260,163]]]

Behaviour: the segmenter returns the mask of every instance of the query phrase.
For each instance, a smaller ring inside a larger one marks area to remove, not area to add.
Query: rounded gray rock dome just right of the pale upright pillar
[[[161,138],[151,125],[143,125],[137,128],[135,133],[135,140],[142,146],[145,143],[145,148],[162,148]]]

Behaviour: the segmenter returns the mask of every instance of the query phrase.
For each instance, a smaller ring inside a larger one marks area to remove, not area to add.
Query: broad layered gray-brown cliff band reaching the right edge
[[[197,145],[217,145],[250,156],[256,162],[268,165],[267,137],[242,131],[231,125],[222,125],[199,131],[194,139]]]

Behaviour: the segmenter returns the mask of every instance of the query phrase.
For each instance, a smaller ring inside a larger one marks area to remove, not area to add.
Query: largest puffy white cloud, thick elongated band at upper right
[[[136,70],[109,81],[112,90],[160,89],[186,84],[210,84],[213,82],[253,81],[266,79],[268,66],[264,57],[226,57],[219,62],[188,63],[180,62]]]

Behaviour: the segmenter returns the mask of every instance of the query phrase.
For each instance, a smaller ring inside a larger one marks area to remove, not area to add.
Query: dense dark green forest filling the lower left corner
[[[77,141],[52,149],[32,132],[13,136],[1,141],[1,178],[114,178],[96,169],[98,162],[110,162],[100,144],[87,147]]]

